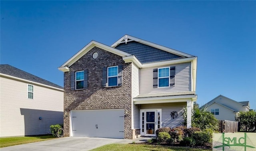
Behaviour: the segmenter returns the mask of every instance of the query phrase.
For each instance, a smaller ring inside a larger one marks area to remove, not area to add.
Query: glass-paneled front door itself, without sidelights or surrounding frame
[[[156,111],[146,111],[146,134],[155,134]]]

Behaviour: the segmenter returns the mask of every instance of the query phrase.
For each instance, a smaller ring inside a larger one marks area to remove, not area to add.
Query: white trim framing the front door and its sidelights
[[[156,134],[146,134],[146,131],[142,132],[142,112],[144,112],[144,124],[146,123],[146,115],[145,112],[146,111],[157,111],[156,114],[158,114],[158,112],[160,112],[160,128],[162,127],[162,109],[140,109],[140,134],[143,136],[156,136]],[[156,118],[158,121],[158,118]],[[158,126],[158,123],[155,123],[155,126]],[[144,126],[144,129],[146,128],[146,125]]]

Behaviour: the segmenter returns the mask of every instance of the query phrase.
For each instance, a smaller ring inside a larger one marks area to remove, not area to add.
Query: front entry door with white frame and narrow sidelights
[[[141,110],[141,135],[155,136],[156,129],[160,128],[161,111]]]

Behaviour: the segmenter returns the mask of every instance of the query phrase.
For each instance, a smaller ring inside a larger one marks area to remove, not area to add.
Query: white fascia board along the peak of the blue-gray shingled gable
[[[171,48],[168,48],[168,47],[164,47],[164,46],[161,46],[161,45],[158,45],[158,44],[155,44],[155,43],[152,43],[152,42],[148,42],[146,40],[142,40],[142,39],[139,39],[139,38],[136,38],[136,37],[133,37],[133,36],[130,36],[130,35],[124,35],[122,38],[120,38],[118,41],[116,41],[114,44],[111,45],[111,47],[115,48],[116,46],[118,46],[118,44],[120,44],[122,42],[122,40],[124,40],[124,38],[128,38],[128,39],[131,39],[131,40],[134,40],[136,42],[140,42],[142,44],[146,44],[148,46],[152,46],[154,48],[158,48],[160,50],[164,50],[166,52],[170,52],[172,54],[176,54],[178,56],[184,56],[184,57],[194,57],[190,54],[186,54],[184,52],[180,52],[178,50],[174,50],[174,49],[171,49]]]

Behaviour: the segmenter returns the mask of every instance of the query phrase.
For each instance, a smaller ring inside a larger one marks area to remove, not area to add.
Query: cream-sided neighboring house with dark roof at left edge
[[[0,65],[0,137],[42,135],[63,123],[63,87]]]

